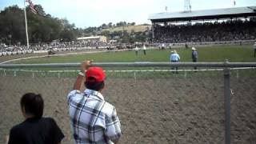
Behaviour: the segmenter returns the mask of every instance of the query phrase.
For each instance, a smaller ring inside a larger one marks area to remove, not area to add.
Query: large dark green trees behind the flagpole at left
[[[35,5],[37,14],[26,7],[30,42],[72,41],[82,35],[74,23],[66,19],[54,18],[46,14],[41,5]],[[16,44],[26,42],[24,10],[18,6],[9,6],[0,12],[0,42]]]

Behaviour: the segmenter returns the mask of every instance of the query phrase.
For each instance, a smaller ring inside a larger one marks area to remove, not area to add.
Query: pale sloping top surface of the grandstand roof
[[[150,14],[149,19],[164,19],[164,18],[194,18],[194,17],[207,17],[218,15],[232,15],[232,14],[248,14],[256,13],[256,6],[236,7],[226,9],[213,9],[213,10],[194,10],[189,12],[174,12],[174,13],[158,13]]]

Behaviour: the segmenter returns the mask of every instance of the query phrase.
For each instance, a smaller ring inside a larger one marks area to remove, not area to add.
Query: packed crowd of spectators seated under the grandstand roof
[[[223,42],[256,38],[256,22],[226,21],[154,26],[154,42]]]

